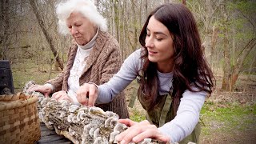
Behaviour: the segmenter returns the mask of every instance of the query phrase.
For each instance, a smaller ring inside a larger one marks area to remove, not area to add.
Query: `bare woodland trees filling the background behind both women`
[[[72,38],[58,34],[55,6],[60,0],[0,0],[0,59],[30,62],[38,71],[62,70]],[[147,15],[166,2],[186,4],[193,12],[202,48],[222,90],[234,90],[239,74],[256,74],[254,0],[94,0],[120,43],[122,59],[140,47]],[[50,77],[49,77],[50,78]]]

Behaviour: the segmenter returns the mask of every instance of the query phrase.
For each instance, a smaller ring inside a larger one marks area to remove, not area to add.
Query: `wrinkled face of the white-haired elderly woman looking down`
[[[70,14],[70,17],[66,19],[66,26],[74,40],[81,46],[90,42],[97,30],[94,23],[78,12]]]

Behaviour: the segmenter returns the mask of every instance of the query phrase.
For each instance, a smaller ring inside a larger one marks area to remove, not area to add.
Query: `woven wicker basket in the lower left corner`
[[[34,143],[41,137],[38,98],[18,93],[0,95],[1,143]]]

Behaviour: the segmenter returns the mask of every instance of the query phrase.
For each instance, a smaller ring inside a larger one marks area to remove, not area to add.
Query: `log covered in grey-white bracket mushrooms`
[[[23,92],[34,85],[26,83]],[[45,98],[38,92],[38,115],[47,128],[55,130],[74,143],[108,144],[118,143],[115,136],[126,130],[126,125],[118,122],[118,114],[103,111],[99,107],[77,106],[65,100],[57,102],[54,98]],[[160,143],[146,138],[142,144]]]

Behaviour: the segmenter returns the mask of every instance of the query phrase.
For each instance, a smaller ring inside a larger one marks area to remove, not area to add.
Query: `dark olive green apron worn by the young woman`
[[[138,81],[139,82],[139,81]],[[142,90],[141,90],[142,91]],[[170,90],[172,94],[172,90]],[[172,110],[172,97],[170,94],[164,94],[158,96],[157,104],[150,111],[146,110],[147,115],[146,119],[157,127],[163,126],[166,122],[170,122],[174,119],[174,110]],[[143,106],[143,101],[141,98],[138,98]],[[144,106],[143,106],[144,107]],[[145,107],[144,107],[145,108]],[[199,143],[199,135],[201,133],[201,125],[198,124],[195,126],[193,132],[184,138],[179,144],[187,144],[188,142]]]

